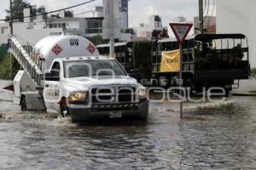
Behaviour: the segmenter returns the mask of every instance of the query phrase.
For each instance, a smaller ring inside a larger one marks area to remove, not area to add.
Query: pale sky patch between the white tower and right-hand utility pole
[[[164,26],[175,20],[177,16],[185,16],[193,20],[198,14],[198,0],[131,0],[129,3],[130,25],[148,24],[148,16],[159,14]]]

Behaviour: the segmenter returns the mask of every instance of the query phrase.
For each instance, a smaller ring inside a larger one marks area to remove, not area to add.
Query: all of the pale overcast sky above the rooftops
[[[48,10],[65,8],[77,3],[84,3],[86,0],[27,0],[27,2],[38,6],[44,5]],[[102,0],[96,0],[74,9],[74,13],[79,14],[90,10],[95,5],[101,5]],[[4,9],[8,8],[9,0],[1,0],[0,15],[5,17]],[[140,23],[148,24],[150,14],[160,14],[163,24],[173,21],[177,16],[185,16],[192,20],[198,14],[198,0],[131,0],[129,3],[130,26],[138,26]]]

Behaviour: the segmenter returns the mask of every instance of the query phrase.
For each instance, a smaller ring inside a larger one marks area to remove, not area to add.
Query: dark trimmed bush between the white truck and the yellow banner
[[[134,42],[132,50],[134,68],[140,69],[144,78],[151,77],[151,43]]]

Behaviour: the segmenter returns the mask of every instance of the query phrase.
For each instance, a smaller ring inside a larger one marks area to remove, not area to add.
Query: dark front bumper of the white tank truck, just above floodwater
[[[92,105],[90,108],[73,107],[69,108],[69,111],[73,122],[118,118],[137,118],[145,121],[148,118],[148,101],[137,104]]]

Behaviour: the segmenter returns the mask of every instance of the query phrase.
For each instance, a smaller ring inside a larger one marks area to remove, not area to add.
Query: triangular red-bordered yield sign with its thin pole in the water
[[[189,31],[192,28],[192,24],[183,24],[183,23],[170,23],[172,31],[179,42],[179,95],[181,98],[180,101],[180,117],[183,118],[183,42],[189,34]]]

